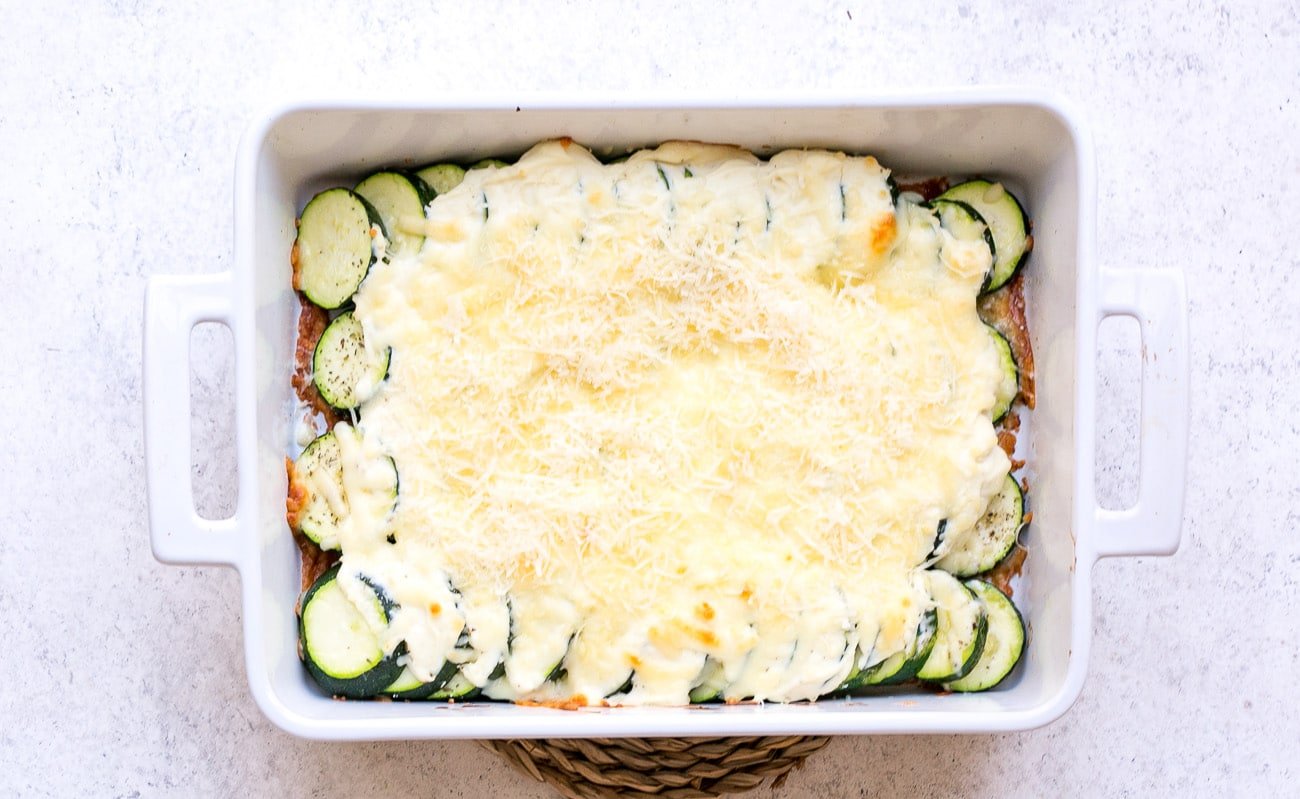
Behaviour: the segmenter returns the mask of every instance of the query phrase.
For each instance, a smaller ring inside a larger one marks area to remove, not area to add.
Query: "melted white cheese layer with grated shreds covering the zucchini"
[[[1009,463],[987,248],[887,178],[549,142],[429,205],[356,295],[393,360],[344,473],[390,455],[396,509],[339,537],[417,677],[685,704],[708,657],[728,700],[790,702],[910,643],[936,526],[972,526]]]

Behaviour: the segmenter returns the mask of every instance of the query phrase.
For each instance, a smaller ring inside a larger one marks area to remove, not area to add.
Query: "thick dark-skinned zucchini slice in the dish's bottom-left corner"
[[[398,651],[385,653],[376,626],[389,621],[377,592],[367,592],[358,607],[338,585],[338,566],[329,569],[303,596],[298,631],[307,670],[334,696],[365,699],[391,685],[402,673]]]

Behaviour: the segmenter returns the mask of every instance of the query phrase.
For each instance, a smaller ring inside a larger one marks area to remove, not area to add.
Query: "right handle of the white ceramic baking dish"
[[[1097,557],[1173,555],[1183,529],[1187,482],[1187,287],[1170,269],[1104,269],[1097,322],[1138,320],[1141,422],[1138,504],[1097,508]]]

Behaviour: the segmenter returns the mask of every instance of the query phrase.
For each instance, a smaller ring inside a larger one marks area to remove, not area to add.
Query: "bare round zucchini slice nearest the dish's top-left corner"
[[[332,311],[356,294],[376,260],[376,227],[387,236],[380,212],[346,188],[322,191],[307,203],[294,242],[298,288],[307,299]]]

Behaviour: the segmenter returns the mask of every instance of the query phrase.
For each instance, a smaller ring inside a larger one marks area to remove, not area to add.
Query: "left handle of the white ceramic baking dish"
[[[190,486],[190,331],[230,326],[229,272],[159,275],[144,290],[144,472],[153,556],[172,564],[235,565],[238,509],[203,518]]]

